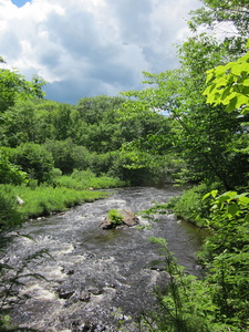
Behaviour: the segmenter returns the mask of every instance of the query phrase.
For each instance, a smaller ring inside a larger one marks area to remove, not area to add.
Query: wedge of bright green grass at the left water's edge
[[[66,187],[23,187],[0,186],[1,216],[0,221],[6,226],[20,224],[29,218],[48,216],[53,212],[64,211],[70,207],[85,201],[104,198],[108,193],[94,190],[75,190]],[[23,204],[18,205],[17,197]]]

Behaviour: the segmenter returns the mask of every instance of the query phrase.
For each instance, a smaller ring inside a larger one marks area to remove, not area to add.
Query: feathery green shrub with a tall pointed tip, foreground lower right
[[[168,250],[166,240],[151,238],[159,246],[162,260],[168,278],[165,289],[156,288],[155,309],[142,320],[143,331],[152,332],[211,332],[214,329],[214,290],[201,280],[184,272],[176,258]],[[142,331],[142,330],[141,330]]]

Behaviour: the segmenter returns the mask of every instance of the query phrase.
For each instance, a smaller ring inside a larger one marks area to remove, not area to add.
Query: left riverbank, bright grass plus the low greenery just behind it
[[[30,218],[65,211],[73,206],[102,199],[110,193],[100,189],[122,187],[125,183],[90,172],[79,172],[74,177],[60,176],[52,184],[37,186],[0,185],[0,228],[13,228]]]

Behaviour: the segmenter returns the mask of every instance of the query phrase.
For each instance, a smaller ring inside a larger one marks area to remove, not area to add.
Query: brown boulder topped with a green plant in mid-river
[[[113,222],[112,217],[110,214],[104,218],[104,220],[100,224],[102,229],[113,229],[116,228],[118,225],[126,225],[128,227],[135,226],[138,224],[138,218],[128,209],[122,210],[112,210],[120,217],[118,222]]]

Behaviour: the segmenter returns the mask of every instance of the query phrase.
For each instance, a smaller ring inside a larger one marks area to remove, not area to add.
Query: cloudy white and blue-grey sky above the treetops
[[[0,0],[0,56],[27,80],[46,81],[46,98],[142,89],[143,71],[178,66],[199,0]]]

